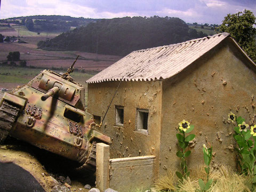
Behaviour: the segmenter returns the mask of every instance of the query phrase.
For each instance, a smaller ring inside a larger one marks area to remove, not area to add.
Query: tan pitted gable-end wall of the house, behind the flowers
[[[195,125],[196,143],[187,159],[188,167],[203,164],[203,143],[211,143],[214,165],[236,167],[233,135],[234,125],[227,122],[228,113],[243,116],[249,123],[256,114],[256,75],[244,65],[249,63],[234,47],[220,44],[210,53],[173,78],[163,81],[161,164],[166,169],[180,169],[176,134],[178,123],[186,119]],[[191,134],[189,133],[189,134]],[[232,146],[233,145],[233,146]]]

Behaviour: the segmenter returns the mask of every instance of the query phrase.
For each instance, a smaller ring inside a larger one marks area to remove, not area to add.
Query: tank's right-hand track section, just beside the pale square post
[[[96,145],[97,141],[92,142],[92,146],[88,149],[87,153],[83,154],[83,157],[81,159],[86,158],[86,162],[78,167],[78,170],[96,170]]]

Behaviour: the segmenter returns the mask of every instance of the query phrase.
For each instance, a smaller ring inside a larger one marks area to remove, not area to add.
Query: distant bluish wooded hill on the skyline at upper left
[[[100,19],[85,19],[83,17],[74,18],[61,15],[34,15],[27,17],[17,17],[2,19],[0,23],[14,23],[15,25],[26,26],[28,30],[37,33],[42,32],[65,32],[75,27],[86,26],[90,22],[96,22]],[[5,26],[5,25],[1,25]],[[9,25],[10,27],[10,25]]]

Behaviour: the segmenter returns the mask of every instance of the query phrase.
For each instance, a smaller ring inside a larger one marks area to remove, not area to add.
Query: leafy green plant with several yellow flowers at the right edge
[[[234,139],[237,142],[238,147],[235,148],[238,156],[238,166],[241,172],[245,175],[249,175],[249,184],[251,190],[256,188],[256,125],[251,126],[251,130],[247,130],[249,127],[245,123],[245,119],[237,117],[234,113],[228,114],[228,119],[233,123],[236,122],[234,127],[235,133]],[[251,140],[250,138],[253,138]]]

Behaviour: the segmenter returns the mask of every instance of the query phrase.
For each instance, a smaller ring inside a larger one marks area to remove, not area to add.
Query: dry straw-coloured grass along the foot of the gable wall
[[[194,192],[200,191],[198,179],[201,178],[206,182],[206,173],[203,166],[198,166],[191,170],[190,177],[183,182],[180,182],[174,171],[169,170],[167,175],[159,178],[155,182],[157,191],[179,191],[179,192]],[[210,171],[210,179],[213,179],[209,192],[243,192],[250,191],[246,186],[247,177],[237,174],[228,166],[221,166],[218,170]]]

